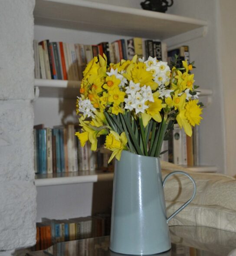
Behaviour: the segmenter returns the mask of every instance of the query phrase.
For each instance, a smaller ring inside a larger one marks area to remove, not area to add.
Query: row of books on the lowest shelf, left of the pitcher
[[[53,244],[110,235],[111,214],[98,213],[72,219],[43,218],[36,223],[36,245],[33,250],[43,250]]]

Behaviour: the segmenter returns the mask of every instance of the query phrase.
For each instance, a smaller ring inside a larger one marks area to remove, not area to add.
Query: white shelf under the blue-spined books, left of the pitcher
[[[113,180],[111,172],[81,171],[75,173],[36,174],[36,186],[55,186],[77,183],[94,183],[99,181]]]

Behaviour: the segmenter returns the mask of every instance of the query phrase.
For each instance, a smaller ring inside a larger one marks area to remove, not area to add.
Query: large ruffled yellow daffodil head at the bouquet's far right
[[[200,114],[202,113],[202,109],[200,106],[197,105],[198,100],[190,100],[186,106],[186,112],[185,116],[187,117],[187,120],[192,126],[195,126],[196,124],[199,125],[201,119],[203,119]]]

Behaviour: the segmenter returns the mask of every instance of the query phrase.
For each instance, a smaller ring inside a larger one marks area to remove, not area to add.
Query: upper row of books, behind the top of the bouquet
[[[82,80],[86,64],[103,53],[107,56],[108,63],[131,60],[135,54],[139,58],[151,56],[167,61],[166,43],[140,37],[93,45],[34,40],[33,48],[36,79]]]

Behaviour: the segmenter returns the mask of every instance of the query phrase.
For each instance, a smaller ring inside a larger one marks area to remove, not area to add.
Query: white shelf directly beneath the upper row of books
[[[69,98],[79,96],[80,81],[35,79],[35,86],[39,88],[39,97]],[[199,89],[200,96],[211,96],[212,90]]]

